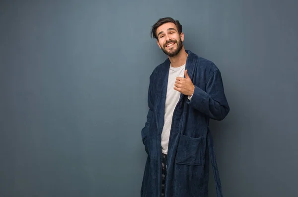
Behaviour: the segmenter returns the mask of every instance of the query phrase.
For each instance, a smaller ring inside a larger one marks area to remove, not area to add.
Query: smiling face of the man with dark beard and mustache
[[[168,56],[176,56],[183,47],[184,35],[179,35],[174,23],[168,22],[160,25],[156,29],[157,44],[159,48]]]

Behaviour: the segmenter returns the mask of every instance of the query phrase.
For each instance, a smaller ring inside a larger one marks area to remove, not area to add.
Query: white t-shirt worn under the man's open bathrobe
[[[176,77],[184,77],[184,71],[185,64],[177,68],[172,66],[169,68],[169,78],[164,108],[164,124],[161,133],[161,147],[163,154],[167,154],[173,112],[181,95],[180,92],[174,90]]]

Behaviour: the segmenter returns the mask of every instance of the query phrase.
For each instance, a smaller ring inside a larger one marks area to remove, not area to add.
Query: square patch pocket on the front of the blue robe
[[[176,155],[177,164],[202,165],[203,137],[181,135]]]

